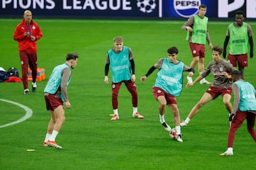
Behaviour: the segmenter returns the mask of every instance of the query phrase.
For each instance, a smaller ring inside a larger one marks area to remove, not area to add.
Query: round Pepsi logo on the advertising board
[[[178,1],[174,0],[174,9],[179,16],[188,18],[198,13],[198,8],[201,5],[201,0],[193,1]]]

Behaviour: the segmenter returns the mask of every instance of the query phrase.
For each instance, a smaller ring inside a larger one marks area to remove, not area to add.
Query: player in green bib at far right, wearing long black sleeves
[[[235,23],[230,23],[226,33],[223,57],[226,57],[226,49],[229,42],[228,61],[242,72],[244,79],[244,69],[248,66],[247,52],[250,45],[250,58],[253,57],[252,28],[248,23],[243,22],[245,14],[242,11],[235,13]]]

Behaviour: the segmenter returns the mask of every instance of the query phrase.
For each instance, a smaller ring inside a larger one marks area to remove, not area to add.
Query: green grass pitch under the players
[[[0,19],[0,67],[17,67],[21,72],[18,45],[13,40],[14,29],[20,21]],[[234,156],[218,156],[227,147],[229,128],[228,113],[220,97],[203,106],[188,127],[182,128],[182,143],[171,140],[159,123],[158,102],[151,93],[157,71],[144,83],[139,77],[159,58],[167,57],[166,50],[171,46],[178,47],[178,60],[190,64],[192,57],[185,40],[186,31],[181,30],[184,21],[37,18],[34,21],[43,31],[43,38],[38,41],[38,67],[46,69],[46,80],[38,81],[36,93],[28,96],[23,95],[21,83],[0,84],[0,98],[21,103],[33,111],[28,120],[0,128],[0,169],[255,169],[255,142],[247,132],[246,123],[236,133]],[[223,46],[230,22],[210,21],[213,45]],[[249,23],[256,31],[256,23]],[[139,112],[144,120],[132,118],[131,97],[124,84],[119,91],[120,119],[110,120],[111,86],[104,83],[104,67],[107,50],[116,35],[124,38],[124,45],[131,47],[134,54]],[[72,108],[65,109],[66,121],[56,138],[63,149],[57,150],[41,145],[50,118],[43,89],[53,67],[65,62],[67,52],[78,52],[79,60],[68,86]],[[211,60],[206,45],[205,66]],[[256,85],[255,58],[249,58],[248,62],[245,79]],[[198,72],[193,78],[197,76]],[[213,77],[206,79],[212,81]],[[181,120],[207,88],[196,84],[183,89],[177,97]],[[11,103],[0,101],[0,108],[0,125],[25,115],[22,108]],[[166,121],[174,127],[169,108],[166,108]],[[26,149],[35,151],[26,152]]]

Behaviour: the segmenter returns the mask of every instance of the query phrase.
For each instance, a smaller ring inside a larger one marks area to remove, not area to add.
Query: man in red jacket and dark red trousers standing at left
[[[18,41],[18,51],[21,59],[22,82],[24,94],[28,94],[28,66],[32,71],[32,92],[36,91],[37,75],[37,43],[43,36],[41,28],[32,20],[31,11],[24,11],[23,20],[14,31],[14,40]]]

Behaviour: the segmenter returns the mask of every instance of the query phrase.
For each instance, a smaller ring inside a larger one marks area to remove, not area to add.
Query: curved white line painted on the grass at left
[[[0,125],[0,128],[5,128],[5,127],[10,126],[10,125],[15,125],[15,124],[17,124],[17,123],[21,123],[21,122],[27,120],[28,118],[30,118],[30,117],[32,116],[32,114],[33,114],[33,111],[31,110],[31,108],[28,108],[27,106],[24,106],[24,105],[22,105],[21,103],[16,103],[16,102],[14,102],[14,101],[8,101],[8,100],[2,99],[2,98],[0,98],[0,101],[5,101],[5,102],[7,102],[7,103],[12,103],[12,104],[14,104],[14,105],[16,105],[16,106],[18,106],[18,107],[23,108],[23,109],[26,111],[26,115],[24,115],[24,116],[23,116],[22,118],[20,118],[19,120],[16,120],[16,121],[14,121],[14,122],[12,122],[12,123],[8,123],[8,124],[6,124],[6,125]]]

